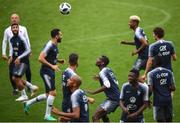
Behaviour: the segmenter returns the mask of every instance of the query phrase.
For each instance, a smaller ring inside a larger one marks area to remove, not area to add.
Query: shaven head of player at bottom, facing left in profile
[[[68,79],[67,85],[69,86],[70,89],[73,89],[73,88],[79,88],[81,83],[82,83],[81,78],[78,75],[74,75],[70,79]]]

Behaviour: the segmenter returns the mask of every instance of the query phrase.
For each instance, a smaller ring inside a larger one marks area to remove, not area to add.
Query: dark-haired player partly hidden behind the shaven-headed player
[[[78,55],[71,53],[69,55],[69,67],[63,72],[62,75],[62,90],[63,90],[63,100],[62,100],[62,111],[71,112],[71,90],[68,87],[68,79],[72,76],[77,75],[76,69],[78,67]]]

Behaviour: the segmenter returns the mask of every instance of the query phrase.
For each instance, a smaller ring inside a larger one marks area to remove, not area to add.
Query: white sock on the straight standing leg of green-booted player
[[[51,115],[51,109],[54,102],[55,96],[49,95],[46,102],[46,114],[45,117],[48,117]]]

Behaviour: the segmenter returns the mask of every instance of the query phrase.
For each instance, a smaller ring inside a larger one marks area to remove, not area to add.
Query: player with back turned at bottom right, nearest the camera
[[[164,62],[164,61],[163,61]],[[154,119],[157,122],[172,122],[173,104],[171,92],[175,91],[173,73],[162,67],[161,59],[156,60],[156,68],[148,73],[148,85],[153,92]]]

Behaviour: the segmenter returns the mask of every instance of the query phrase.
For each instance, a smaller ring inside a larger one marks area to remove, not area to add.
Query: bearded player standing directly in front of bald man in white
[[[16,83],[18,90],[21,91],[21,96],[16,99],[16,101],[24,101],[28,99],[24,86],[28,86],[33,93],[38,90],[38,87],[22,79],[26,70],[28,55],[31,50],[25,39],[18,35],[18,24],[12,24],[11,31],[13,37],[10,39],[10,58],[8,64],[10,66],[10,71],[12,72],[12,80]]]

